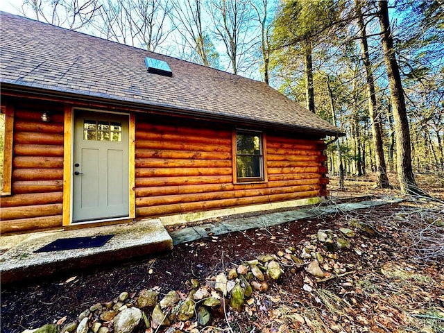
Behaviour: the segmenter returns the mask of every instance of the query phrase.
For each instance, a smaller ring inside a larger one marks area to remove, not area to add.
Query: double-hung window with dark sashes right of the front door
[[[264,139],[262,133],[236,130],[233,155],[236,168],[234,182],[265,181]]]

